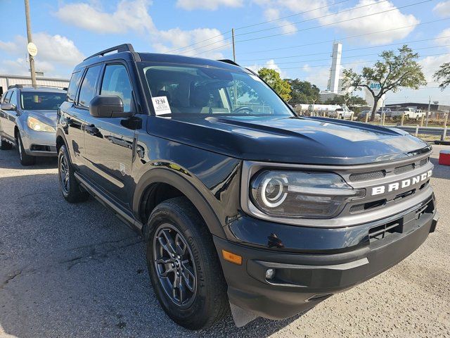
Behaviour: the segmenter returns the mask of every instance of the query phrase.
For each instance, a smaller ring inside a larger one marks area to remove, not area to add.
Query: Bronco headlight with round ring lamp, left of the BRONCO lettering
[[[263,170],[250,181],[252,203],[281,218],[333,218],[364,194],[335,173]]]

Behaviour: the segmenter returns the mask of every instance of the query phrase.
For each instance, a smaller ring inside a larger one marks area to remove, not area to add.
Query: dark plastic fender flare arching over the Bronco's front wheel
[[[141,215],[141,202],[144,194],[146,193],[148,187],[154,183],[165,183],[172,187],[178,189],[184,196],[187,197],[189,201],[195,206],[200,217],[203,218],[205,224],[210,230],[211,234],[219,236],[221,238],[226,238],[225,232],[219,218],[214,212],[213,208],[208,203],[207,199],[203,194],[195,187],[195,185],[186,178],[182,177],[174,171],[166,168],[154,168],[149,170],[147,173],[143,174],[139,182],[136,184],[136,189],[134,190],[133,196],[133,212],[136,218],[140,218]],[[146,220],[142,225],[142,233],[144,237],[147,232],[147,222]]]

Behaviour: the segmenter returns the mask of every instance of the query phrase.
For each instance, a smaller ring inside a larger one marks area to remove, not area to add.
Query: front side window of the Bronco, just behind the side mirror
[[[106,66],[100,94],[119,96],[124,104],[124,111],[131,111],[131,82],[124,65]]]

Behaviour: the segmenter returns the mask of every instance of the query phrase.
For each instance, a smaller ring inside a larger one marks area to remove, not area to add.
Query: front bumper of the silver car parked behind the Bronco
[[[31,156],[57,156],[56,132],[37,132],[25,127],[20,130],[25,153]]]

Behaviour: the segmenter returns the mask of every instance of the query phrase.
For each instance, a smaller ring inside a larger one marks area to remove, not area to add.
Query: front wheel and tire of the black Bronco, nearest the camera
[[[190,330],[221,320],[229,311],[226,282],[211,234],[191,202],[162,202],[147,229],[148,272],[167,315]]]

